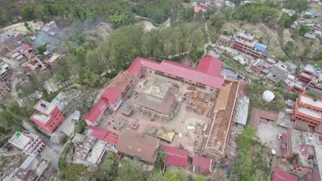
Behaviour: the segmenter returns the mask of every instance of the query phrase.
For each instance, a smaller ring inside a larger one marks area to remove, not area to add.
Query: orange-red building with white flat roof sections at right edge
[[[310,126],[315,127],[322,122],[322,100],[315,99],[308,95],[300,94],[295,102],[293,112],[290,117],[291,121],[297,119],[307,122]]]

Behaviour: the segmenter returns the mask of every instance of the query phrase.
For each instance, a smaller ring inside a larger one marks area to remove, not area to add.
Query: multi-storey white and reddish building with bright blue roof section
[[[253,34],[247,31],[241,31],[237,34],[232,48],[256,59],[261,58],[266,50],[266,46],[258,43]]]

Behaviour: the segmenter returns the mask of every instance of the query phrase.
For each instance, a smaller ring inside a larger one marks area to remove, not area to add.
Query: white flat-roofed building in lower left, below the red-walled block
[[[16,132],[10,138],[9,143],[30,156],[37,156],[45,147],[41,138],[31,132]]]

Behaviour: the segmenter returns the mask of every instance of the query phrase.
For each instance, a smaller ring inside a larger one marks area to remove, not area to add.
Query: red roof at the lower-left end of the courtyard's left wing
[[[99,99],[98,102],[93,106],[91,110],[87,113],[84,120],[91,123],[95,123],[100,115],[106,110],[108,102],[105,99]]]

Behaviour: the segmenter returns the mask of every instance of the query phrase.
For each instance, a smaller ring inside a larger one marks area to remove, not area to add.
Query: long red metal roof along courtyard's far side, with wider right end
[[[210,66],[210,67],[209,67]],[[213,88],[220,88],[224,83],[224,78],[219,76],[219,70],[222,66],[222,62],[211,56],[202,58],[197,69],[193,69],[182,64],[163,60],[161,63],[154,62],[145,58],[136,58],[131,64],[131,67],[127,69],[132,75],[136,76],[140,72],[142,67],[160,71],[177,77],[182,77],[185,80],[192,82],[198,82],[211,86]]]

